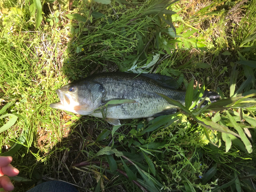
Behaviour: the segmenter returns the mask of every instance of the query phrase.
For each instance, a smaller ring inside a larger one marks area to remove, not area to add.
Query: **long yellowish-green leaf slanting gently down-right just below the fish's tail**
[[[234,133],[233,131],[229,130],[228,127],[226,126],[222,126],[218,123],[214,123],[212,121],[208,121],[206,119],[203,119],[201,117],[198,117],[198,116],[194,116],[194,119],[202,126],[214,131],[220,131],[222,133],[229,133],[229,134],[232,134],[234,136],[237,136],[237,137],[240,137],[238,134]]]

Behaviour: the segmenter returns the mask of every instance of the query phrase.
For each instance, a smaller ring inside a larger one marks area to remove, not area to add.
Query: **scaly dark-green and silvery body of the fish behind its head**
[[[107,118],[114,119],[132,119],[141,117],[151,117],[156,114],[162,113],[165,110],[177,108],[170,105],[165,99],[158,96],[157,93],[164,94],[174,100],[180,101],[182,104],[185,102],[185,92],[169,89],[175,88],[175,85],[170,84],[169,87],[166,82],[172,81],[172,78],[164,77],[165,82],[161,82],[162,78],[154,80],[153,78],[144,75],[131,74],[131,73],[102,73],[90,76],[84,80],[90,80],[102,84],[105,90],[105,96],[102,100],[105,101],[112,99],[132,99],[136,103],[124,103],[118,106],[108,107]],[[156,77],[156,75],[154,74]],[[91,114],[96,117],[102,118],[100,112]]]

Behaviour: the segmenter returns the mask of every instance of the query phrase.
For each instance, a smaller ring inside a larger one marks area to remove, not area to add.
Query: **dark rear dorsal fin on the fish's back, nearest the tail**
[[[142,73],[140,75],[154,79],[155,81],[160,83],[161,86],[163,86],[167,89],[173,89],[173,90],[178,89],[178,84],[173,77],[169,77],[169,76],[165,76],[165,75],[158,75],[158,74],[154,74],[154,73],[148,73],[148,74]]]

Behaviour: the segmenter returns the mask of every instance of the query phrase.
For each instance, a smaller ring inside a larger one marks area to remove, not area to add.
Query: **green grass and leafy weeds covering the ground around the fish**
[[[58,179],[79,191],[254,191],[256,2],[240,2],[0,1],[0,126],[12,121],[0,154],[20,170],[14,190]],[[56,89],[106,71],[172,76],[186,106],[121,127],[49,107]],[[203,84],[227,99],[191,110]]]

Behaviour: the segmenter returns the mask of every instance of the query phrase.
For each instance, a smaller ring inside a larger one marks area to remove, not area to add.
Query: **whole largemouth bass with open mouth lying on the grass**
[[[111,72],[92,75],[56,90],[60,102],[51,103],[54,109],[104,118],[110,124],[121,125],[119,119],[158,117],[177,112],[178,106],[169,104],[157,93],[185,105],[185,91],[177,90],[174,78],[159,74]],[[205,91],[203,97],[211,102],[219,99],[215,92]],[[113,100],[133,102],[106,103]],[[100,109],[104,109],[104,113]]]

